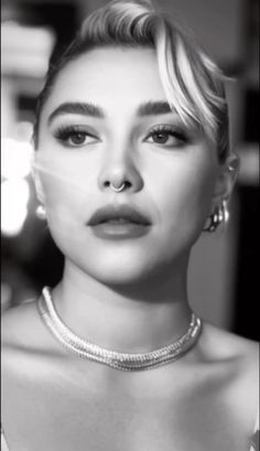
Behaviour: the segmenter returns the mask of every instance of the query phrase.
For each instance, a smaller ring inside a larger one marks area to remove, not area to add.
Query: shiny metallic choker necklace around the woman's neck
[[[202,321],[192,313],[187,332],[174,343],[140,354],[109,351],[83,340],[62,322],[47,287],[43,289],[42,294],[37,301],[41,318],[63,346],[82,358],[124,372],[150,369],[176,361],[194,346],[202,330]]]

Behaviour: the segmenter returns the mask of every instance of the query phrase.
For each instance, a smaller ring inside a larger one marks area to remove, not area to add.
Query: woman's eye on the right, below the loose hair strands
[[[184,146],[188,139],[182,130],[177,130],[174,127],[160,126],[152,129],[145,140],[147,142],[159,146],[181,147]]]

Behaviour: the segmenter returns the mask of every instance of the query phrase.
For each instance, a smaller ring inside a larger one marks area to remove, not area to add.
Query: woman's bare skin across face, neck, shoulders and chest
[[[64,68],[41,117],[37,195],[65,255],[54,303],[76,333],[118,351],[154,350],[185,333],[191,247],[232,185],[209,140],[185,130],[174,112],[137,116],[140,104],[162,100],[152,50],[99,49]],[[98,105],[105,117],[64,114],[48,124],[67,101]],[[79,147],[61,142],[57,130],[68,125],[94,138]],[[182,127],[188,139],[154,142],[149,132],[158,125]],[[109,183],[126,180],[126,191],[111,191]],[[108,203],[145,213],[150,232],[117,241],[94,236],[86,223]],[[82,451],[86,441],[97,451],[248,445],[257,346],[247,340],[205,324],[182,359],[128,374],[68,355],[41,323],[35,302],[9,312],[3,331],[3,425],[13,449],[21,440],[40,451]]]

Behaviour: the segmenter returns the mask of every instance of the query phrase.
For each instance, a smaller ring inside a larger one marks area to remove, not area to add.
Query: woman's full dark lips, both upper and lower
[[[145,235],[151,221],[130,205],[107,205],[97,210],[87,223],[104,239],[128,239]]]

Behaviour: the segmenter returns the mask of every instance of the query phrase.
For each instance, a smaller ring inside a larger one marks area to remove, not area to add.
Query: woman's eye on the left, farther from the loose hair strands
[[[76,126],[58,128],[54,132],[54,138],[67,147],[82,147],[99,141],[93,133]]]

